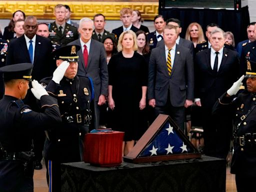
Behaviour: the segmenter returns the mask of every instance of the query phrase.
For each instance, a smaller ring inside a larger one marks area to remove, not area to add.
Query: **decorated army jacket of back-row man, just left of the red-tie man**
[[[49,24],[48,38],[52,41],[55,41],[60,46],[66,45],[69,42],[78,38],[77,28],[72,26],[71,24],[65,23],[64,31],[61,34],[54,21]]]

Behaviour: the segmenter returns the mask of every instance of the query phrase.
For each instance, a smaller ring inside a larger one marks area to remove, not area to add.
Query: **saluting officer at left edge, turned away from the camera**
[[[22,99],[31,81],[31,63],[7,65],[0,100],[0,191],[33,191],[32,133],[61,121],[57,100],[35,80],[31,91],[42,112],[34,112]]]

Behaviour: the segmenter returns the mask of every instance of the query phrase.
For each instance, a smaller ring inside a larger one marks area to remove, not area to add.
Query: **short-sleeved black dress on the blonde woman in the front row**
[[[139,101],[142,86],[147,86],[147,64],[142,55],[134,52],[126,58],[122,52],[113,55],[108,63],[109,85],[115,108],[111,128],[124,131],[124,141],[136,140],[140,127]]]

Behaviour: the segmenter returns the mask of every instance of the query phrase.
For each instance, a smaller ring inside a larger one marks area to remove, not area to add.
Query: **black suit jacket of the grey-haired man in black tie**
[[[239,57],[236,51],[223,48],[223,57],[217,74],[210,66],[210,48],[195,56],[195,98],[202,105],[212,107],[216,99],[231,87],[239,76]]]

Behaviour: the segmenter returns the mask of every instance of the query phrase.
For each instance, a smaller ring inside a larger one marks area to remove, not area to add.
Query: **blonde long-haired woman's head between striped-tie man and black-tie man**
[[[205,41],[201,25],[191,22],[186,29],[185,39],[192,41],[194,47],[197,43]]]

